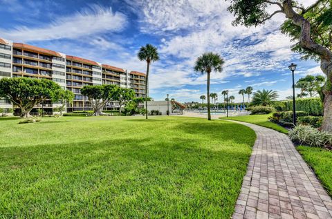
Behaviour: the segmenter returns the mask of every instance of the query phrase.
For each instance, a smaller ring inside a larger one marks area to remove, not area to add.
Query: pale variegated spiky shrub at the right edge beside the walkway
[[[311,126],[298,125],[288,133],[293,142],[308,146],[330,147],[332,146],[332,134],[318,131]]]

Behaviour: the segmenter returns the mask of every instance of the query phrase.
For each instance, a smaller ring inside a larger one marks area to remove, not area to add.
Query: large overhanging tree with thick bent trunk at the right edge
[[[324,93],[323,131],[332,131],[332,1],[317,0],[304,8],[297,1],[284,0],[228,0],[228,8],[235,15],[233,25],[257,26],[274,15],[282,13],[287,20],[282,32],[292,37],[292,50],[301,53],[302,59],[320,60],[320,68],[327,81]],[[277,10],[269,8],[275,6]],[[269,13],[270,12],[270,13]]]

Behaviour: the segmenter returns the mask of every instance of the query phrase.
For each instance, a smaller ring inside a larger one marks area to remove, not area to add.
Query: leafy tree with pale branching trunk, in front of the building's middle
[[[83,86],[82,95],[88,97],[93,108],[93,115],[101,115],[102,108],[114,98],[118,86],[113,84],[103,84],[94,86]]]

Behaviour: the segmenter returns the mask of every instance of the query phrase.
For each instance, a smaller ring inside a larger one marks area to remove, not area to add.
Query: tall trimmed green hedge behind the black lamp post
[[[323,104],[320,98],[303,98],[295,100],[296,111],[304,111],[308,115],[323,115]],[[293,111],[293,100],[284,102],[283,111]]]

